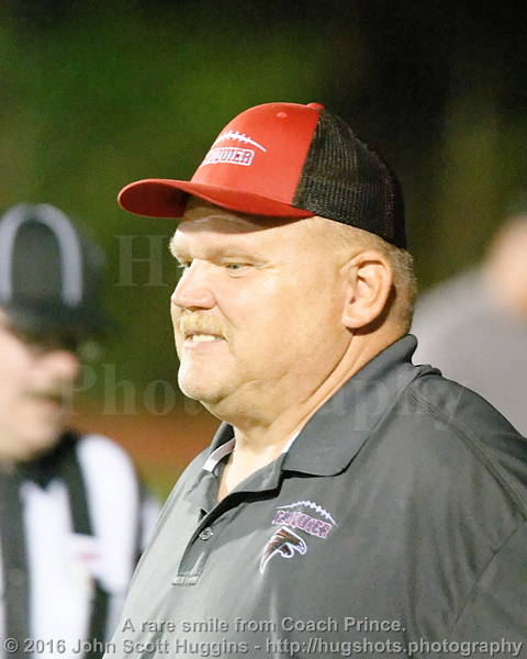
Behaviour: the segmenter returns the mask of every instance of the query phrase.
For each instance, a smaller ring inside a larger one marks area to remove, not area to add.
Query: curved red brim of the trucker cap
[[[121,190],[117,199],[125,211],[137,215],[181,217],[189,194],[238,213],[292,219],[313,217],[314,215],[310,211],[295,209],[254,192],[170,179],[145,179],[130,183]]]

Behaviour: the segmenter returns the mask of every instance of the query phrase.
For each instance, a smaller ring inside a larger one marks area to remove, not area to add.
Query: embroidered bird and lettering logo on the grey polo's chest
[[[314,511],[323,517],[323,520],[314,517],[303,512],[303,510],[298,509],[310,509],[310,512]],[[280,528],[271,536],[264,549],[264,556],[260,561],[261,573],[264,573],[267,563],[273,556],[292,558],[295,552],[304,555],[307,551],[306,541],[298,533],[292,530],[293,528],[303,530],[311,536],[325,539],[332,528],[337,526],[337,523],[332,515],[312,501],[298,501],[290,505],[279,506],[272,524],[280,525]]]

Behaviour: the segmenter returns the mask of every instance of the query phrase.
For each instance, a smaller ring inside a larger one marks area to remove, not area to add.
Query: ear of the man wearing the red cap
[[[347,278],[343,323],[349,330],[359,330],[385,311],[392,290],[392,268],[380,252],[367,249],[351,258]]]

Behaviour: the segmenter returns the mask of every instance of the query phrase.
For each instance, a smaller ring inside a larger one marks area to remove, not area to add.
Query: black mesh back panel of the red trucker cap
[[[321,110],[292,205],[406,247],[399,181],[341,119]]]

